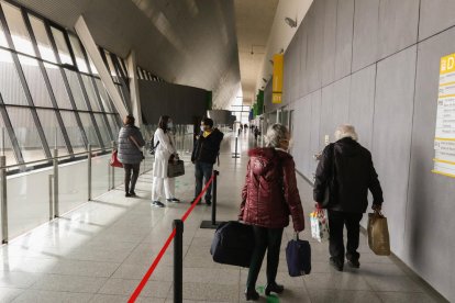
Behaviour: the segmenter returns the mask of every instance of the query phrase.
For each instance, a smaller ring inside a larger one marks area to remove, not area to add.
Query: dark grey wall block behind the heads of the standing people
[[[157,124],[160,115],[170,115],[175,124],[198,123],[207,115],[209,91],[192,87],[138,80],[142,115]]]

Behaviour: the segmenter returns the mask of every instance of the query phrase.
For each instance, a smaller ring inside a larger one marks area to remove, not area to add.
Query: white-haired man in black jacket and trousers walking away
[[[322,152],[315,172],[313,199],[321,207],[320,202],[323,201],[325,187],[332,184],[331,200],[326,206],[330,226],[330,263],[342,271],[345,257],[351,267],[360,266],[358,261],[360,255],[357,252],[359,222],[368,207],[368,189],[373,194],[373,210],[380,211],[384,199],[371,154],[357,143],[354,126],[339,126],[335,138],[336,142]],[[343,240],[344,225],[347,229],[346,254]]]

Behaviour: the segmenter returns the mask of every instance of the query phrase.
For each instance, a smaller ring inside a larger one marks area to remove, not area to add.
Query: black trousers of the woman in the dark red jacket
[[[249,265],[247,289],[255,289],[257,276],[263,265],[264,255],[267,250],[267,283],[275,282],[278,271],[279,250],[281,246],[284,228],[266,228],[253,226],[255,248]]]

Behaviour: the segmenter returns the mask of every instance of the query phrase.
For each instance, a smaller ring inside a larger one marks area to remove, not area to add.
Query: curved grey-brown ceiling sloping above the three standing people
[[[16,0],[70,30],[84,15],[98,45],[124,58],[135,49],[166,81],[213,91],[217,109],[230,108],[241,82],[233,1]]]

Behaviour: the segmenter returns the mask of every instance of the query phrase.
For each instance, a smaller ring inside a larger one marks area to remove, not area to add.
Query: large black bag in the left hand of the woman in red
[[[210,254],[218,263],[249,267],[253,249],[253,226],[230,221],[217,228]]]

